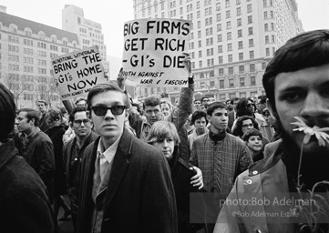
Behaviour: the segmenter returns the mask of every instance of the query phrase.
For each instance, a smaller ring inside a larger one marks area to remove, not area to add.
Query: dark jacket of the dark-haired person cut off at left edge
[[[17,154],[13,140],[0,146],[0,232],[54,232],[46,187]]]

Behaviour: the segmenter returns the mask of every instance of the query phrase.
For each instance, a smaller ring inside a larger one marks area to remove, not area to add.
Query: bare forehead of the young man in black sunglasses
[[[91,98],[91,105],[125,105],[125,94],[119,91],[106,91],[96,94]]]

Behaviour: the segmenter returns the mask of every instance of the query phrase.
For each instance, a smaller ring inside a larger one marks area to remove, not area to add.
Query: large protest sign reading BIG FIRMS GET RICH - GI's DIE
[[[124,25],[122,75],[139,86],[188,86],[188,20],[138,19]]]

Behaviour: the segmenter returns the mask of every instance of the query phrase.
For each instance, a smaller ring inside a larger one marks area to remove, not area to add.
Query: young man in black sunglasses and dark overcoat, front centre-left
[[[125,128],[128,106],[128,97],[112,84],[88,93],[99,137],[81,163],[77,232],[177,232],[169,165]]]

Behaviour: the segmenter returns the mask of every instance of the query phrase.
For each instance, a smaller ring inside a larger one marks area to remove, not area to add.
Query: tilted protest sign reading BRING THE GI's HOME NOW
[[[86,96],[91,87],[107,82],[98,46],[57,56],[52,65],[62,100]]]

